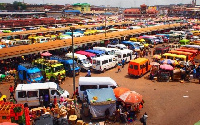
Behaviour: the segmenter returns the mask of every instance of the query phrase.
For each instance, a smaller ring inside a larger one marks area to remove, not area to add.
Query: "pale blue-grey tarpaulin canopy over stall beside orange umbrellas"
[[[105,117],[107,109],[110,115],[116,111],[116,98],[112,88],[88,89],[86,93],[90,104],[90,113],[93,118]],[[94,101],[95,98],[96,101]]]

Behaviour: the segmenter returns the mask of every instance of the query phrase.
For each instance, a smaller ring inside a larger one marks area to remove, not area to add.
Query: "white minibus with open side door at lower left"
[[[40,96],[48,94],[49,102],[53,102],[54,96],[69,97],[69,92],[63,90],[59,85],[54,82],[46,83],[31,83],[31,84],[18,84],[15,90],[15,98],[17,103],[25,104],[28,106],[40,106]]]

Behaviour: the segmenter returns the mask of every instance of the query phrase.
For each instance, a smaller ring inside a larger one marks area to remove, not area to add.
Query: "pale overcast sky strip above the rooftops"
[[[31,4],[74,4],[74,3],[89,3],[91,5],[106,5],[115,7],[139,7],[145,3],[148,6],[152,5],[169,5],[169,4],[188,4],[192,0],[0,0],[0,3],[13,3],[14,1],[25,2]],[[200,5],[200,0],[197,0],[197,5]]]

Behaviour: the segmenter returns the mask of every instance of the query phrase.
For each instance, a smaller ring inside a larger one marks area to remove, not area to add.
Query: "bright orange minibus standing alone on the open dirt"
[[[137,58],[131,60],[128,66],[129,76],[142,77],[151,69],[150,61],[147,58]]]

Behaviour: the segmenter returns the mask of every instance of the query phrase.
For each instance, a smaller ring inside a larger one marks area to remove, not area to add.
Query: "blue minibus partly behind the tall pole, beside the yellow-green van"
[[[50,57],[50,60],[58,60],[64,65],[66,76],[72,76],[73,75],[73,60],[70,58],[60,57],[60,56],[52,56]],[[74,60],[74,70],[75,74],[79,75],[80,73],[80,67],[78,67],[77,62]]]

